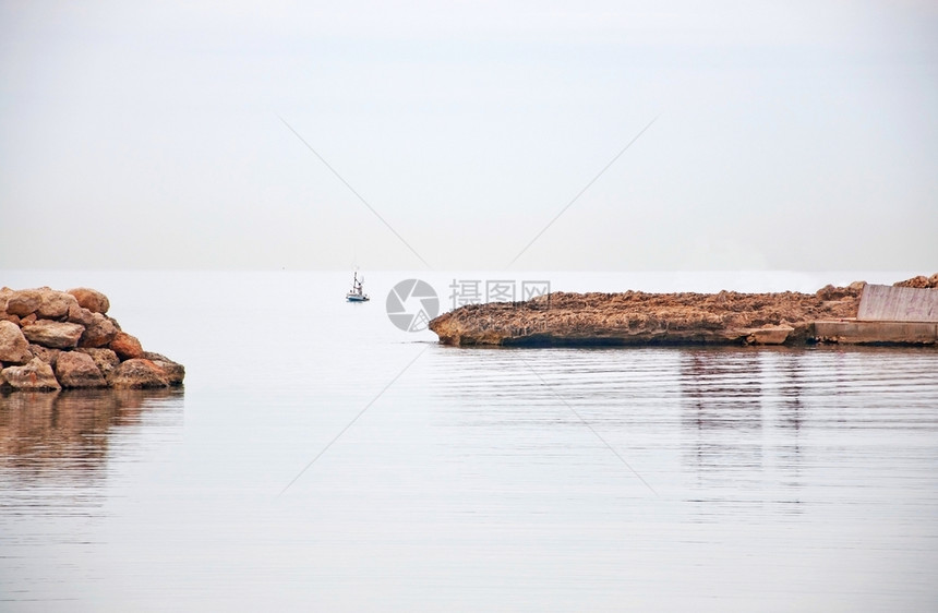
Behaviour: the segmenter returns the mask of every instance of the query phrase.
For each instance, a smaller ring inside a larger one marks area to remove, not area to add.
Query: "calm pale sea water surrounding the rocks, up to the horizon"
[[[386,317],[408,276],[3,273],[101,289],[187,380],[0,397],[0,609],[938,608],[938,350],[450,348]]]

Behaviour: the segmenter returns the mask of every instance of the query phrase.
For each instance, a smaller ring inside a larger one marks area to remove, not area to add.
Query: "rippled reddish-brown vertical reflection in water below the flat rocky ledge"
[[[802,359],[785,349],[683,353],[682,457],[700,518],[767,504],[803,512]]]

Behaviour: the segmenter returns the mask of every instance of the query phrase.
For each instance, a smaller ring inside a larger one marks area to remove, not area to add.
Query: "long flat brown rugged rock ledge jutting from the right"
[[[938,274],[894,284],[938,288]],[[815,293],[567,293],[469,304],[430,322],[454,346],[805,345],[815,323],[856,317],[866,286]]]

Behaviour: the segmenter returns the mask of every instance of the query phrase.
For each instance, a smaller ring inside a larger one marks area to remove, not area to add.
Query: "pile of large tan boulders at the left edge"
[[[0,390],[182,385],[181,364],[144,351],[94,289],[0,289]]]

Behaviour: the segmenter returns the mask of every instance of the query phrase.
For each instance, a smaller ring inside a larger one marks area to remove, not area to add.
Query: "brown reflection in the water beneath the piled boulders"
[[[0,394],[0,472],[12,469],[17,480],[92,477],[104,464],[115,428],[141,423],[159,405],[181,406],[182,394],[181,388]]]

